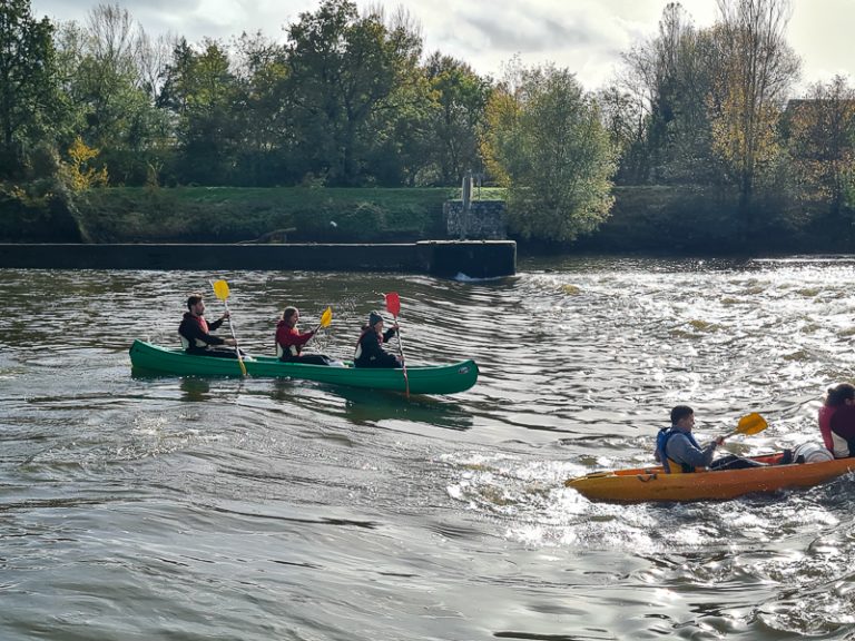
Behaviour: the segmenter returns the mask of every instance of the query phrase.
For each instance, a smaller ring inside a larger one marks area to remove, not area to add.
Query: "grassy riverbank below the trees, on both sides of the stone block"
[[[502,200],[502,189],[476,189]],[[0,241],[91,244],[386,244],[449,239],[449,188],[109,188],[70,195],[40,189],[0,194]],[[746,234],[736,203],[701,186],[615,188],[609,219],[572,244],[520,241],[520,250],[733,255],[846,253],[852,224],[776,210]],[[512,235],[512,229],[511,229]]]

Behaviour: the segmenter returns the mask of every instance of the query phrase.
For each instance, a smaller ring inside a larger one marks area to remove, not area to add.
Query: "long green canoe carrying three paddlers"
[[[134,341],[130,346],[130,364],[134,371],[177,374],[179,376],[240,376],[237,359],[215,356],[196,356],[183,349],[168,349],[145,341]],[[256,377],[284,377],[318,381],[350,387],[370,387],[405,392],[403,369],[301,365],[283,363],[274,356],[254,356],[244,359],[246,373]],[[472,387],[478,379],[474,361],[461,361],[452,365],[406,367],[411,394],[454,394]]]

